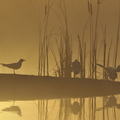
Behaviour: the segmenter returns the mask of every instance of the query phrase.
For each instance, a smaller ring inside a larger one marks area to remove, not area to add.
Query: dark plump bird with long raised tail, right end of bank
[[[117,69],[115,69],[113,67],[104,67],[104,66],[102,66],[100,64],[97,64],[97,65],[100,66],[100,67],[102,67],[102,68],[104,68],[106,70],[107,75],[109,76],[109,78],[111,80],[114,81],[117,78]]]

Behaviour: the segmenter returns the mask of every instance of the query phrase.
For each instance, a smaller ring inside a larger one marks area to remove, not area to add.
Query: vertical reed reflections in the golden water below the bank
[[[95,100],[96,102],[94,102]],[[108,96],[105,106],[103,106],[102,97],[56,99],[51,108],[50,101],[39,100],[38,120],[109,120],[109,118],[117,120],[119,118],[117,113],[120,109],[120,103],[117,102],[116,96]],[[100,105],[101,107],[98,107]],[[112,108],[112,111],[109,108]],[[54,113],[54,117],[51,111]]]

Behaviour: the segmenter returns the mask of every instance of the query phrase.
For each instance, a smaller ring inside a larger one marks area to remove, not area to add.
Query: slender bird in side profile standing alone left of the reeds
[[[13,72],[15,74],[15,70],[19,69],[22,66],[23,61],[26,61],[26,60],[20,59],[17,63],[10,63],[10,64],[0,63],[0,64],[10,69],[13,69]]]

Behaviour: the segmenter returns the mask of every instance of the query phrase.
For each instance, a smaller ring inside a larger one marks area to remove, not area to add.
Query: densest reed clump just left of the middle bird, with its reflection
[[[71,41],[69,38],[69,32],[68,32],[68,23],[67,23],[67,13],[66,13],[66,5],[65,5],[65,1],[62,1],[61,3],[63,3],[63,8],[62,8],[62,4],[58,4],[58,6],[60,7],[63,16],[64,16],[64,23],[65,23],[65,27],[63,26],[63,22],[59,16],[59,14],[53,10],[56,15],[58,16],[58,19],[61,23],[61,35],[60,35],[60,43],[58,43],[56,41],[57,44],[57,48],[58,48],[58,53],[59,53],[59,58],[60,58],[60,76],[62,77],[71,77],[71,71],[70,71],[70,66],[71,66],[71,54],[72,54],[72,50],[71,50]],[[61,120],[62,118],[67,120],[70,113],[69,113],[69,105],[71,103],[71,99],[61,99],[60,102],[60,111],[59,111],[59,119]],[[63,104],[64,104],[64,115],[62,114],[63,112]],[[64,117],[63,117],[64,116]]]

